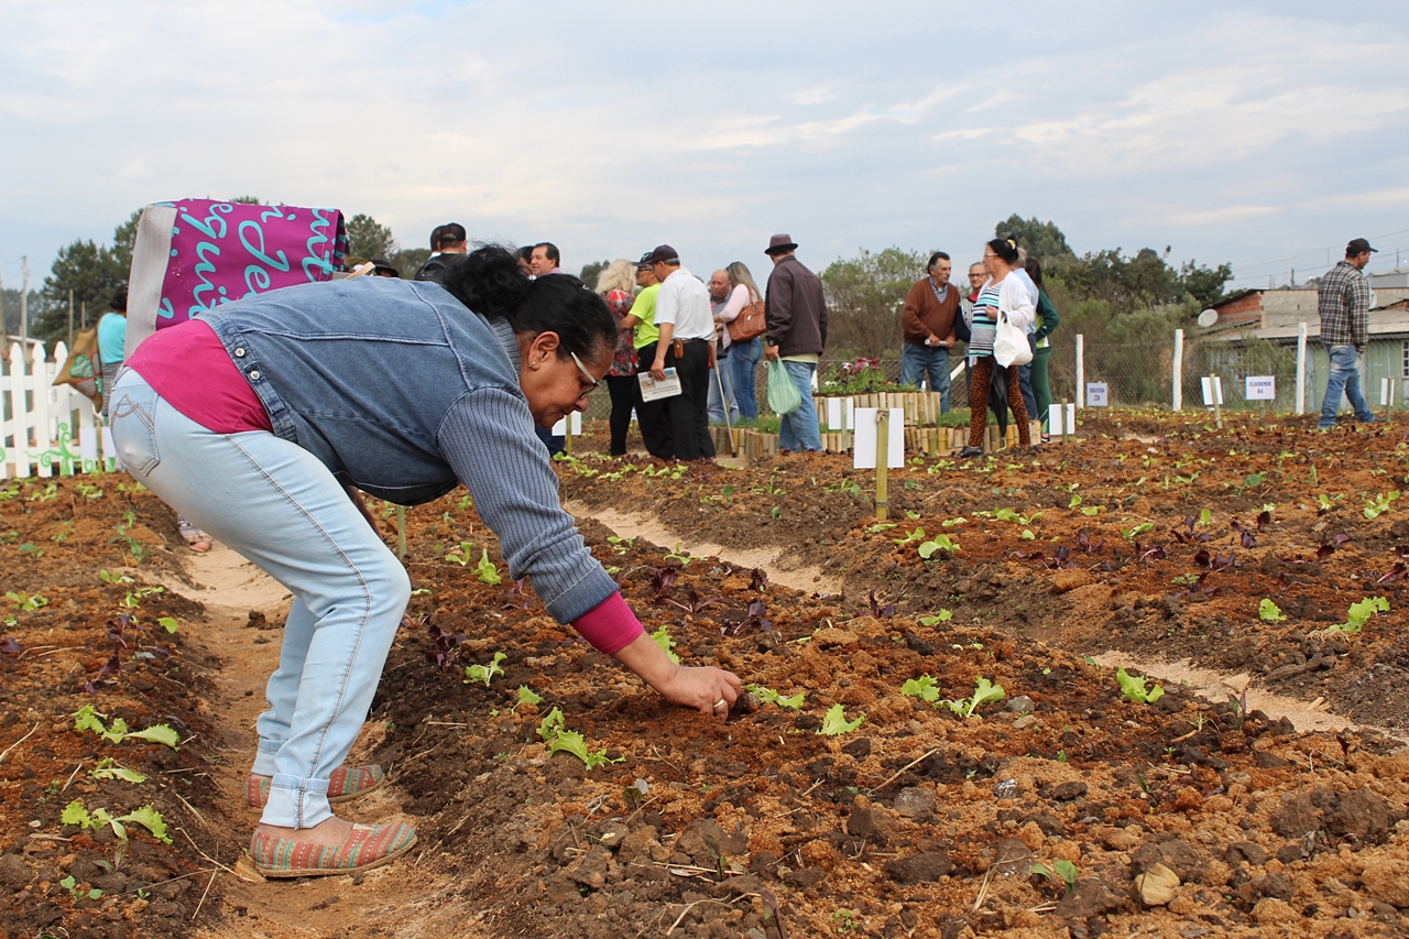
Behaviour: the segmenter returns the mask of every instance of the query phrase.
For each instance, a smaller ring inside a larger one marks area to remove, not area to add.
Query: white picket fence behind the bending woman
[[[117,448],[93,402],[70,385],[54,385],[68,347],[59,343],[54,361],[44,344],[34,345],[32,355],[27,362],[14,343],[10,357],[0,360],[0,479],[113,472]]]

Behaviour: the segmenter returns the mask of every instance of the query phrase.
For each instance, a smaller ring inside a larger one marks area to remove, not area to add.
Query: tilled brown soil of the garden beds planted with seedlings
[[[1257,685],[1305,687],[1303,696],[1398,730],[1398,505],[1377,519],[1363,509],[1398,488],[1402,454],[1394,433],[1248,424],[1217,434],[1186,422],[1164,440],[1112,433],[992,462],[913,464],[890,475],[896,527],[879,530],[867,475],[840,457],[747,471],[562,462],[565,496],[654,512],[700,540],[776,544],[785,563],[820,565],[845,584],[845,595],[796,592],[583,524],[648,629],[664,627],[686,664],[720,664],[758,687],[727,723],[665,705],[547,618],[531,587],[507,579],[462,493],[417,508],[407,558],[417,595],[359,751],[389,768],[421,840],[359,890],[420,890],[417,909],[461,909],[466,929],[488,935],[1405,935],[1409,756],[1398,740],[1298,733],[1277,715],[1172,685],[1141,704],[1086,658],[1127,649],[1246,668]],[[203,871],[213,870],[209,856],[230,864],[230,845],[207,845],[183,816],[211,815],[216,797],[199,775],[218,760],[200,749],[223,729],[201,704],[214,698],[218,663],[200,660],[182,630],[156,626],[170,615],[194,629],[199,610],[170,592],[141,598],[144,643],[166,654],[123,651],[96,698],[82,691],[113,651],[108,608],[134,587],[97,577],[124,563],[127,543],[107,541],[121,512],[135,506],[154,546],[175,533],[145,493],[118,499],[108,488],[89,501],[58,481],[58,498],[32,501],[45,485],[0,501],[4,530],[21,533],[0,547],[6,568],[25,571],[6,589],[49,599],[15,610],[0,633],[25,650],[0,654],[0,750],[14,744],[0,763],[11,832],[0,847],[0,909],[11,912],[0,925],[13,936],[139,936],[182,935],[194,921],[218,935],[244,911],[221,901],[218,883],[204,894]],[[1319,513],[1322,493],[1343,498]],[[18,551],[68,519],[73,533],[46,544],[52,554]],[[907,541],[917,527],[924,539]],[[938,533],[958,550],[921,558],[919,544]],[[476,571],[485,548],[499,584]],[[154,560],[125,560],[135,585],[155,581]],[[1385,596],[1389,612],[1360,633],[1327,632],[1363,596]],[[1264,598],[1288,619],[1260,620]],[[55,634],[69,634],[59,653],[30,651],[58,644]],[[151,651],[144,643],[138,650]],[[466,675],[496,653],[502,674],[488,684]],[[209,680],[187,681],[204,667],[214,668]],[[905,694],[924,677],[936,704]],[[166,678],[186,682],[186,694],[165,691]],[[1357,701],[1343,694],[1372,681],[1382,684]],[[981,682],[1003,696],[976,701]],[[797,695],[788,702],[796,709],[774,694]],[[540,701],[524,702],[533,695]],[[76,733],[66,715],[89,702],[131,728],[179,720],[187,742],[169,751]],[[555,708],[604,763],[589,770],[550,749]],[[850,729],[833,726],[834,708]],[[103,756],[166,781],[93,780],[87,770]],[[103,887],[99,861],[113,861],[114,845],[58,823],[75,792],[87,806],[151,802],[176,843],[130,826],[127,863],[154,870],[130,866],[123,884]],[[349,816],[378,821],[351,806]],[[59,883],[66,874],[72,890]],[[156,874],[193,887],[163,897]],[[90,900],[93,888],[103,894]],[[297,904],[297,884],[279,890]],[[333,900],[314,907],[320,922],[335,916]],[[431,935],[426,922],[349,919],[338,932]]]

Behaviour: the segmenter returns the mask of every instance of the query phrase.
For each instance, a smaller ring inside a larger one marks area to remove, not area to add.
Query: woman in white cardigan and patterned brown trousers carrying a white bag
[[[974,323],[969,340],[969,365],[972,367],[972,383],[969,385],[969,443],[960,451],[960,457],[979,457],[983,454],[983,427],[988,424],[988,391],[993,381],[995,369],[1002,367],[993,360],[993,337],[1000,319],[1006,319],[1017,329],[1026,331],[1034,321],[1037,307],[1033,305],[1033,295],[1027,285],[1013,275],[1019,266],[1017,243],[1012,238],[993,238],[983,245],[983,268],[988,271],[988,281],[974,300]],[[1027,426],[1027,406],[1023,403],[1023,393],[1019,386],[1017,369],[1007,368],[1007,406],[1013,412],[1017,423],[1017,440],[1022,446],[1031,446],[1031,434]]]

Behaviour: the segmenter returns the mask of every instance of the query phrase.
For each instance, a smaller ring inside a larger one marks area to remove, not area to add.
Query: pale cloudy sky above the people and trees
[[[1405,48],[1402,1],[0,0],[0,276],[247,193],[573,271],[967,261],[1014,211],[1247,286],[1409,266]]]

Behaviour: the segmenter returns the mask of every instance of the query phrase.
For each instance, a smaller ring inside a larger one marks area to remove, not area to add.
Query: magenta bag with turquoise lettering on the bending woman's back
[[[128,290],[127,355],[155,330],[221,303],[342,269],[347,233],[337,209],[182,199],[148,206],[137,228]]]

